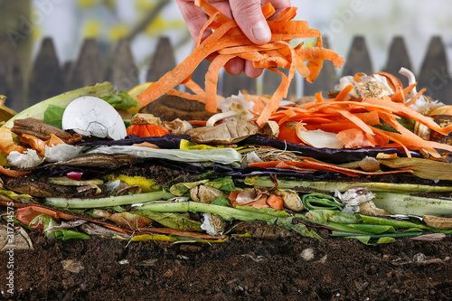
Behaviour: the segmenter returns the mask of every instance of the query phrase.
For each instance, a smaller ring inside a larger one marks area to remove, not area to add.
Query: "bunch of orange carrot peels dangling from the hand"
[[[269,18],[275,14],[275,8],[269,3],[262,6],[262,13],[268,20],[272,35],[270,42],[257,45],[250,42],[234,20],[221,14],[207,0],[196,0],[195,4],[200,6],[210,18],[203,25],[194,51],[173,71],[167,72],[138,96],[143,106],[168,93],[201,101],[205,104],[207,111],[215,112],[217,101],[221,100],[217,97],[218,74],[228,61],[239,57],[252,61],[255,68],[268,69],[282,77],[281,84],[268,100],[265,108],[262,106],[256,111],[259,115],[256,123],[259,127],[263,127],[271,114],[277,110],[279,102],[287,98],[287,90],[294,78],[295,70],[308,82],[313,82],[321,71],[324,60],[333,61],[335,67],[341,67],[344,63],[344,58],[339,54],[323,48],[322,36],[318,30],[310,29],[306,21],[293,20],[297,14],[297,7],[288,7],[270,21]],[[202,41],[202,33],[207,28],[211,28],[213,33]],[[304,38],[317,38],[316,46],[303,47],[301,42],[297,47],[293,47],[289,43],[293,39]],[[205,75],[204,91],[191,80],[191,76],[202,60],[214,52],[218,55],[213,59]],[[306,64],[305,61],[309,62]],[[288,68],[288,76],[276,68]],[[195,95],[175,90],[174,87],[181,83],[185,83]]]

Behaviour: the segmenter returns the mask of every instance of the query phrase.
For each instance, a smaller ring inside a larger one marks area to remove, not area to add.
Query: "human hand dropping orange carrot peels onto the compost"
[[[198,40],[202,25],[209,19],[208,16],[200,7],[194,5],[193,0],[176,0],[176,2],[193,40]],[[290,7],[290,0],[211,0],[210,2],[222,14],[236,20],[241,31],[256,44],[264,44],[271,38],[270,29],[260,9],[261,5],[271,3],[276,9],[276,14]],[[202,33],[202,39],[207,38],[211,33],[212,31],[206,30]],[[240,58],[228,61],[224,69],[232,75],[243,71],[250,78],[257,78],[262,74],[262,70],[254,68],[251,61]]]

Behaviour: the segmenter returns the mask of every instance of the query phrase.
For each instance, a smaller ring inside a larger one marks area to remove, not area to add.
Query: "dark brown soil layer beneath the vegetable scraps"
[[[34,249],[14,251],[14,295],[6,292],[8,257],[0,253],[0,299],[452,300],[450,236],[370,247],[294,233],[212,245],[29,234]],[[63,269],[68,259],[80,271]]]

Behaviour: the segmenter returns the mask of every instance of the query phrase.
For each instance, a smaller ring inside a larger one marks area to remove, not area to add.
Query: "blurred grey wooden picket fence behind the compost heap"
[[[452,104],[452,82],[441,37],[431,38],[426,53],[417,74],[419,88],[426,88],[426,94],[433,99]],[[357,72],[367,74],[376,72],[363,36],[354,37],[345,59],[346,62],[339,71],[331,62],[326,61],[315,83],[310,84],[304,80],[293,81],[289,94],[297,95],[297,91],[298,94],[302,91],[302,95],[314,95],[315,92],[324,91],[325,95],[326,91],[334,89],[339,77],[354,75]],[[161,37],[155,45],[146,81],[158,80],[175,65],[173,46],[167,37]],[[209,61],[203,61],[193,73],[193,80],[202,87],[208,66]],[[411,69],[411,66],[403,38],[394,37],[388,52],[386,67],[381,71],[391,72],[406,85],[408,81],[400,76],[399,70],[400,67]],[[24,74],[21,70],[11,43],[7,40],[0,41],[0,94],[8,97],[6,104],[16,111],[28,108],[66,90],[104,80],[111,81],[118,90],[128,90],[139,83],[139,78],[136,61],[130,50],[130,42],[127,40],[119,41],[107,57],[101,57],[98,42],[87,39],[82,44],[78,59],[62,64],[55,52],[52,39],[44,38],[33,60],[30,74]],[[280,78],[274,72],[265,72],[257,80],[247,78],[243,74],[231,76],[224,73],[219,82],[219,91],[224,96],[237,94],[240,89],[247,89],[250,93],[272,94],[278,88],[279,82]],[[297,87],[300,83],[302,87]]]

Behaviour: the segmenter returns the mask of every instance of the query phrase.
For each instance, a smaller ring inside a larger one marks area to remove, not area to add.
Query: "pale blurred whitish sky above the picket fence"
[[[34,9],[39,10],[39,3],[42,1],[52,0],[34,0]],[[139,0],[117,0],[113,10],[99,7],[80,9],[80,2],[77,0],[53,1],[55,4],[52,11],[45,14],[45,18],[38,25],[41,37],[54,38],[61,61],[77,58],[85,22],[95,19],[106,29],[115,24],[132,26],[137,23],[140,16],[137,9]],[[141,2],[143,1],[146,0]],[[155,3],[153,0],[148,2]],[[380,71],[384,67],[386,53],[394,36],[405,38],[414,71],[419,70],[428,42],[435,35],[443,38],[450,61],[452,58],[450,4],[450,0],[292,0],[292,5],[298,7],[297,19],[308,21],[312,28],[319,29],[328,36],[331,48],[344,57],[347,56],[353,36],[365,36],[375,71]],[[165,20],[182,20],[175,1],[166,6],[161,15]],[[172,41],[177,43],[186,34],[186,28],[183,26],[170,31],[162,29],[161,34],[170,35]],[[189,43],[181,48],[176,53],[176,61],[182,61],[192,47],[193,43]],[[133,41],[133,52],[138,64],[151,55],[154,49],[155,36],[141,34]]]

